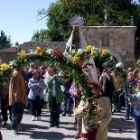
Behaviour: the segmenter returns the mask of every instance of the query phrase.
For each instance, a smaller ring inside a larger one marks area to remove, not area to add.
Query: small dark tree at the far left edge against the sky
[[[5,49],[11,47],[10,37],[7,37],[4,31],[0,32],[0,49]]]

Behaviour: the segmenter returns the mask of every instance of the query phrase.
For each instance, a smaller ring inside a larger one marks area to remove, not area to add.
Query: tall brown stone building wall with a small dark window
[[[83,34],[88,44],[107,48],[125,67],[135,66],[135,26],[85,26]]]

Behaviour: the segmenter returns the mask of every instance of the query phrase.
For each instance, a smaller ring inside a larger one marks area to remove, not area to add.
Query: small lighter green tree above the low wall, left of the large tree
[[[47,30],[36,31],[32,36],[32,40],[37,42],[44,42],[49,40],[49,37],[47,35]]]

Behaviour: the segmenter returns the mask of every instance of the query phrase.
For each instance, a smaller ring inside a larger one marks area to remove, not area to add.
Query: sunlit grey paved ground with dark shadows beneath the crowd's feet
[[[42,119],[43,121],[31,121],[31,115],[25,113],[20,134],[14,135],[10,125],[3,126],[3,140],[74,140],[76,131],[73,117],[61,117],[60,128],[49,128],[48,112],[43,112]],[[113,115],[108,140],[135,140],[133,122],[125,121],[124,113]]]

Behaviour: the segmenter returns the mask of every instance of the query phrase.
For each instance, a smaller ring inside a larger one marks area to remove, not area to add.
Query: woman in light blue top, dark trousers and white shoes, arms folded
[[[30,107],[32,112],[32,121],[41,120],[41,110],[42,110],[42,100],[43,90],[45,88],[44,79],[40,78],[39,72],[37,69],[34,69],[32,72],[32,78],[29,79],[28,83],[30,100]]]

